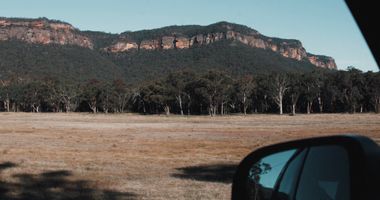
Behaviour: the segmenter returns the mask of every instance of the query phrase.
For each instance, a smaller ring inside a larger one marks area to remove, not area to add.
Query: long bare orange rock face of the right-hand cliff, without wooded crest
[[[196,35],[172,33],[170,35],[159,36],[155,39],[144,39],[140,43],[133,39],[126,39],[128,38],[127,34],[123,35],[122,39],[118,40],[115,44],[104,48],[104,50],[116,53],[134,50],[187,49],[192,46],[208,45],[221,40],[231,40],[238,41],[252,48],[268,49],[284,57],[298,61],[307,60],[317,67],[337,68],[333,58],[307,53],[302,43],[298,40],[270,38],[261,35],[255,30],[240,33],[232,25],[224,25],[223,28],[224,30],[221,32]]]

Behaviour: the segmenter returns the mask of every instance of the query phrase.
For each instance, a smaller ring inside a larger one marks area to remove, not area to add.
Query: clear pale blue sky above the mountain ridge
[[[7,0],[0,16],[47,17],[111,33],[229,21],[298,39],[308,52],[334,57],[339,69],[378,71],[343,0]]]

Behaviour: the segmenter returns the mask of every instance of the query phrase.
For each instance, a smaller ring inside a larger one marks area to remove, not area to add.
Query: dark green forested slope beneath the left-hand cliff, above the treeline
[[[51,77],[83,82],[123,77],[121,67],[96,51],[77,46],[0,42],[0,78],[37,80]]]

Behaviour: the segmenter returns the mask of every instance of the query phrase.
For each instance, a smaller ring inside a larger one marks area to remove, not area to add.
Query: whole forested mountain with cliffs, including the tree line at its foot
[[[244,25],[110,34],[0,18],[0,110],[144,114],[379,112],[379,73],[337,71]]]

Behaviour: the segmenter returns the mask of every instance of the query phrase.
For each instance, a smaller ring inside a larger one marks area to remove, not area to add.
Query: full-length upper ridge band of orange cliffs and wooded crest
[[[189,49],[222,40],[237,41],[251,48],[270,50],[314,66],[336,69],[332,57],[313,55],[295,39],[267,37],[245,25],[217,22],[207,26],[166,26],[151,30],[110,34],[81,31],[73,25],[47,18],[24,19],[0,17],[0,41],[21,40],[27,43],[78,45],[109,53],[140,50]]]

